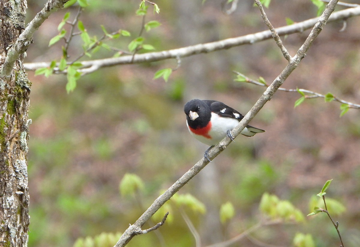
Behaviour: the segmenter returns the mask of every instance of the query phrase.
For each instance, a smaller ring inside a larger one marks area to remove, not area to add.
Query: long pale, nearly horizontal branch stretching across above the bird
[[[328,19],[331,21],[338,21],[342,19],[347,19],[353,16],[360,15],[360,6],[356,8],[350,8],[345,10],[340,10],[333,13]],[[294,23],[292,25],[283,26],[276,28],[276,32],[279,35],[292,34],[303,32],[314,26],[314,24],[318,21],[318,17],[308,19],[306,21]],[[126,55],[118,58],[105,58],[105,59],[97,59],[97,60],[88,60],[82,61],[83,67],[78,71],[83,75],[87,73],[91,73],[96,71],[101,67],[110,67],[121,64],[132,64],[132,63],[143,63],[143,62],[156,62],[165,59],[177,58],[177,57],[189,57],[191,55],[197,55],[201,53],[209,53],[217,50],[229,49],[235,46],[245,45],[245,44],[254,44],[259,41],[271,39],[272,35],[269,30],[257,32],[245,36],[239,36],[235,38],[224,39],[220,41],[210,42],[206,44],[197,44],[192,46],[186,46],[183,48],[158,51],[158,52],[148,52],[144,54],[136,54],[134,59],[132,59],[132,55]],[[25,63],[24,67],[27,70],[35,70],[38,68],[49,67],[50,62],[40,62],[40,63]],[[67,73],[66,71],[62,71],[61,73]]]

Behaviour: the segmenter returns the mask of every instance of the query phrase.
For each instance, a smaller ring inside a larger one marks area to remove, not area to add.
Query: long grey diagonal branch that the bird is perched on
[[[310,35],[305,40],[304,44],[297,51],[296,55],[291,59],[288,65],[280,73],[274,82],[267,87],[265,92],[261,95],[260,99],[255,103],[255,105],[250,109],[250,111],[244,116],[244,118],[239,122],[238,126],[231,131],[231,135],[236,137],[244,129],[245,126],[255,117],[255,115],[260,111],[260,109],[266,104],[267,101],[271,99],[276,90],[283,84],[287,77],[291,74],[292,71],[299,65],[301,60],[305,57],[307,50],[319,35],[321,30],[324,28],[327,20],[330,17],[330,14],[334,11],[336,3],[338,0],[330,0],[330,3],[326,6],[324,13],[320,16],[318,22],[316,22],[314,28],[312,28]],[[155,212],[162,206],[164,203],[169,200],[177,191],[179,191],[186,183],[190,181],[196,174],[198,174],[209,162],[218,156],[231,142],[231,139],[226,136],[219,144],[213,147],[209,151],[208,159],[202,158],[199,160],[189,171],[187,171],[179,180],[177,180],[170,188],[168,188],[161,196],[159,196],[152,205],[135,221],[133,225],[130,225],[129,228],[120,237],[119,241],[116,243],[115,247],[125,246],[129,241],[136,235],[134,229],[141,228],[145,222],[150,219],[150,217],[155,214]]]

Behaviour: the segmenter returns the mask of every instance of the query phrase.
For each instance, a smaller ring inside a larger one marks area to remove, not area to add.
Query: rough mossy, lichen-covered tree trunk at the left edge
[[[26,0],[0,1],[0,67],[24,30],[26,7]],[[0,246],[22,247],[28,241],[30,85],[21,55],[11,76],[0,77]]]

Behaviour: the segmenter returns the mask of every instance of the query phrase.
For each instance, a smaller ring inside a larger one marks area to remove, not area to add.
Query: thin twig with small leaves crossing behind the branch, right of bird
[[[252,80],[251,78],[243,75],[242,73],[240,73],[238,71],[233,71],[233,72],[236,73],[237,75],[243,77],[245,79],[245,82],[248,82],[248,83],[251,83],[251,84],[254,84],[254,85],[257,85],[257,86],[264,86],[264,87],[269,86],[267,84]],[[326,97],[326,95],[324,95],[324,94],[319,94],[319,93],[316,93],[316,92],[313,92],[313,91],[310,91],[310,90],[307,90],[307,89],[286,89],[286,88],[283,88],[283,87],[279,87],[278,90],[284,91],[284,92],[294,92],[294,93],[298,93],[298,91],[300,91],[300,92],[303,92],[303,93],[310,94],[310,95],[305,95],[305,98],[307,98],[307,99],[325,98]],[[333,97],[334,97],[333,101],[336,101],[336,102],[339,102],[339,103],[342,103],[342,104],[347,104],[347,105],[349,105],[349,108],[360,109],[360,104],[355,104],[355,103],[348,102],[346,100],[343,100],[343,99],[340,99],[340,98],[336,97],[335,95],[333,95]]]

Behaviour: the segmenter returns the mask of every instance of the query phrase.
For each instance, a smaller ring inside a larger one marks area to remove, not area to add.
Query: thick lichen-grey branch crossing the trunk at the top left
[[[68,0],[49,0],[44,5],[44,8],[36,14],[36,16],[29,22],[25,30],[20,34],[17,41],[8,50],[5,62],[0,71],[0,76],[9,76],[13,70],[15,61],[23,54],[32,42],[32,35],[41,26],[41,24],[55,12],[57,9],[62,8],[64,3]]]

